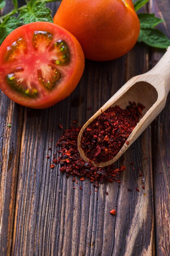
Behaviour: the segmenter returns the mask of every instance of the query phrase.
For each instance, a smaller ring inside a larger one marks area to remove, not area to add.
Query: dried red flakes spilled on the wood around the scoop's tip
[[[126,169],[126,166],[121,166],[120,168],[115,168],[112,164],[106,167],[95,167],[89,162],[84,162],[84,160],[79,155],[79,150],[77,146],[77,138],[79,135],[80,127],[71,126],[69,129],[65,130],[62,137],[57,142],[56,146],[60,156],[58,162],[60,162],[60,171],[66,172],[67,176],[70,174],[81,177],[88,177],[91,182],[94,182],[96,188],[99,187],[99,182],[113,182],[116,180],[116,176]]]

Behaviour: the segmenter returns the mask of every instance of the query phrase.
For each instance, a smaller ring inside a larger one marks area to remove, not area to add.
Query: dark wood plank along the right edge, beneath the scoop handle
[[[154,1],[150,12],[165,21],[159,29],[170,38],[170,2]],[[165,51],[153,50],[151,65],[155,65]],[[152,124],[153,182],[155,198],[155,243],[157,255],[170,254],[170,94],[164,110]]]

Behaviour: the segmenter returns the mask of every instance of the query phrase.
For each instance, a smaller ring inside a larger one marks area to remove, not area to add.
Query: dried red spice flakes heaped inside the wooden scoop
[[[115,106],[102,112],[83,132],[81,146],[86,157],[94,163],[115,157],[125,143],[129,144],[127,139],[143,109],[142,104],[129,102],[125,109]]]

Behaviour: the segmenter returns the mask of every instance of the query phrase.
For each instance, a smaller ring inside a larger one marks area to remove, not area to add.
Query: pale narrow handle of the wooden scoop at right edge
[[[168,94],[170,91],[170,46],[155,67],[149,70],[146,74],[150,74],[152,76],[155,75],[157,84],[161,84],[164,81],[166,85],[166,92]]]

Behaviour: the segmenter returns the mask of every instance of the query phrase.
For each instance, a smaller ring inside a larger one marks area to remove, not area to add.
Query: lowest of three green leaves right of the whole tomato
[[[158,29],[141,29],[138,42],[144,42],[146,45],[156,48],[166,49],[170,45],[170,39]]]

